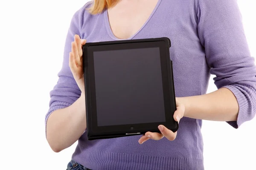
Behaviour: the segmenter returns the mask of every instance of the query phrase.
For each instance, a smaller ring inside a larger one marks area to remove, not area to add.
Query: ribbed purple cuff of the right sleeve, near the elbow
[[[238,127],[241,126],[241,124],[250,120],[250,115],[248,114],[247,98],[242,91],[240,91],[238,88],[236,88],[233,85],[225,85],[222,88],[227,88],[230,91],[232,91],[232,93],[235,95],[236,100],[238,102],[239,112],[238,112],[237,121],[227,122],[229,125],[237,129]]]

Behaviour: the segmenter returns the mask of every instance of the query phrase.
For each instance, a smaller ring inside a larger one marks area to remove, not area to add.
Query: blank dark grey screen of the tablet
[[[165,122],[159,48],[94,51],[98,126]]]

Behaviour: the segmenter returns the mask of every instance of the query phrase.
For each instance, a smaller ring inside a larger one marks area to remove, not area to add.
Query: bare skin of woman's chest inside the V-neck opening
[[[128,39],[140,31],[151,19],[161,0],[119,1],[108,9],[108,22],[113,35]]]

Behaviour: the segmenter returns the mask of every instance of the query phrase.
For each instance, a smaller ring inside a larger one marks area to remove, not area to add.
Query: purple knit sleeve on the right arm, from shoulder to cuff
[[[256,113],[256,66],[250,56],[236,0],[198,0],[198,35],[217,88],[228,88],[239,104],[234,128]]]

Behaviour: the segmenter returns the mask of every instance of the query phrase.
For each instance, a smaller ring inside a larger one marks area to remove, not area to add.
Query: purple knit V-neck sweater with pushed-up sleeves
[[[74,34],[87,42],[120,40],[108,22],[107,11],[91,15],[88,3],[73,16],[67,33],[59,80],[50,92],[48,116],[73,104],[81,91],[68,61]],[[226,87],[236,96],[239,115],[234,128],[256,113],[256,67],[244,35],[236,0],[159,0],[146,23],[129,39],[169,37],[172,42],[175,94],[205,94],[210,74],[217,88]],[[200,105],[200,103],[198,103]],[[80,137],[72,159],[93,170],[203,170],[202,120],[184,117],[177,138],[148,140],[140,136],[88,141]]]

